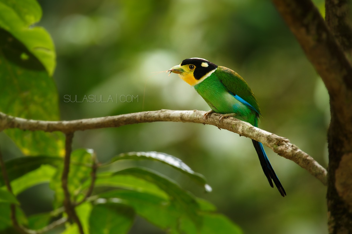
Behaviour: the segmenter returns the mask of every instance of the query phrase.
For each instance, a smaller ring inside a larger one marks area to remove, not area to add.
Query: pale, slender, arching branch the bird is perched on
[[[193,122],[214,125],[218,128],[238,133],[242,136],[262,142],[264,145],[271,148],[275,153],[294,161],[302,168],[306,169],[310,174],[315,176],[324,185],[327,184],[326,169],[323,168],[307,153],[304,153],[290,141],[273,133],[266,132],[256,128],[247,122],[238,119],[224,119],[219,122],[218,113],[211,114],[206,120],[203,118],[204,111],[147,111],[130,114],[122,114],[115,116],[106,116],[93,119],[81,119],[71,121],[41,121],[27,120],[18,117],[8,116],[0,113],[0,128],[19,128],[30,131],[61,131],[74,132],[87,129],[120,127],[134,123],[157,122],[157,121],[172,121],[172,122]]]

